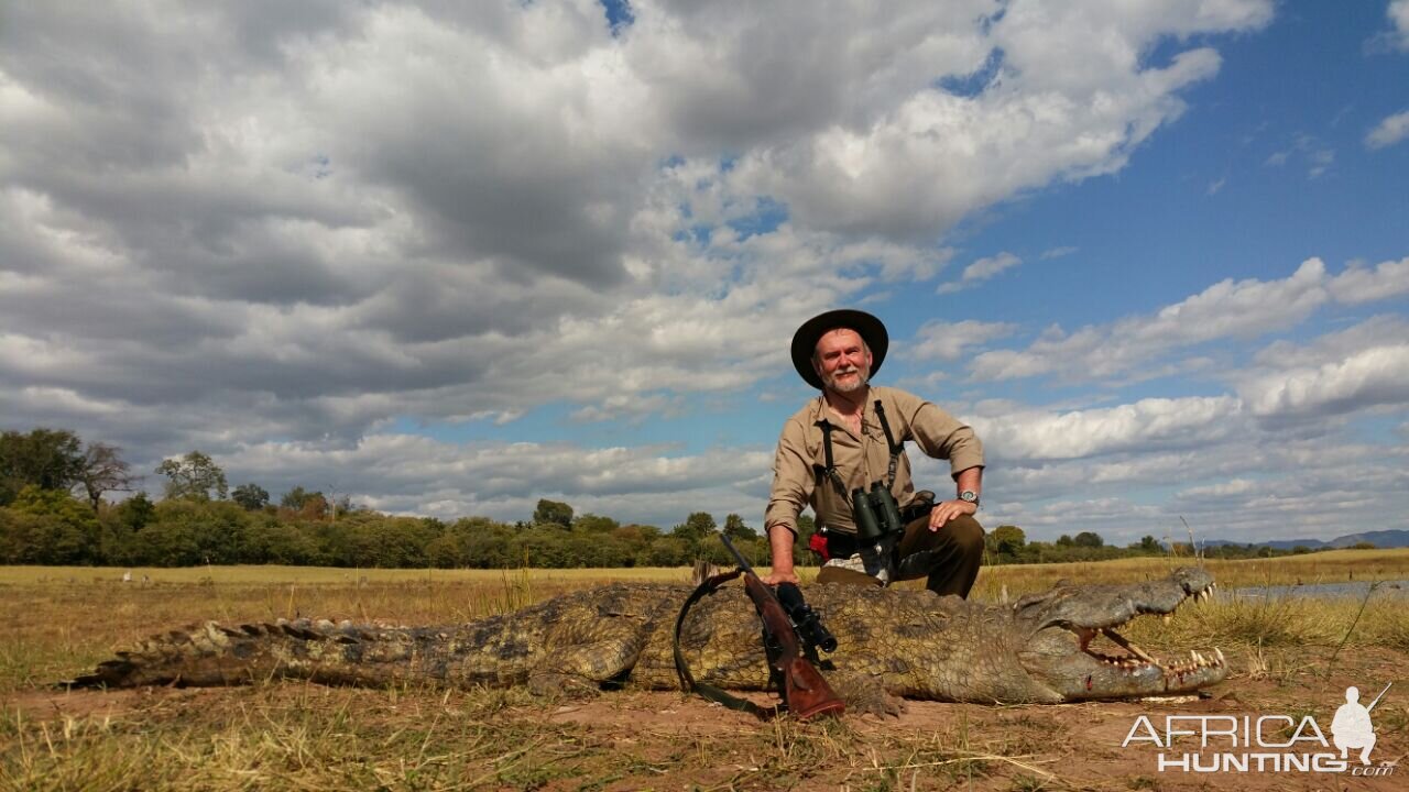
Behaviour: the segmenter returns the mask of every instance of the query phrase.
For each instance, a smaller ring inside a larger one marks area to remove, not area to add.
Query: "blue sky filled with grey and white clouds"
[[[989,526],[1409,528],[1406,86],[1409,0],[6,0],[0,424],[757,526],[858,306]]]

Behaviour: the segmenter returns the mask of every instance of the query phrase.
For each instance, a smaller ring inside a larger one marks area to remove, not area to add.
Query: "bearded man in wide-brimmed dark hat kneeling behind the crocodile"
[[[886,585],[926,578],[940,595],[968,596],[983,558],[974,519],[983,445],[974,430],[913,393],[871,385],[889,348],[876,317],[834,310],[793,334],[793,366],[821,393],[783,424],[764,517],[769,583],[797,582],[793,537],[805,506],[817,514],[819,583]],[[948,459],[955,497],[914,492],[905,443]],[[876,538],[879,537],[879,541]]]

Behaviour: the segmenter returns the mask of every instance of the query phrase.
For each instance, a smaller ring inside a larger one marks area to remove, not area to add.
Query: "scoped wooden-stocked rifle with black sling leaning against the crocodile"
[[[748,592],[748,599],[754,602],[754,607],[758,610],[758,617],[764,623],[764,651],[768,655],[768,668],[774,683],[778,688],[778,693],[783,699],[783,706],[788,712],[797,716],[799,720],[810,720],[813,717],[821,716],[840,716],[845,712],[847,705],[837,698],[837,693],[831,691],[827,681],[817,672],[817,668],[807,660],[810,652],[816,657],[816,650],[812,645],[820,645],[826,651],[831,651],[837,645],[837,640],[821,626],[817,616],[807,607],[806,602],[802,599],[802,592],[797,586],[790,583],[783,583],[783,586],[792,590],[786,592],[786,598],[790,609],[796,616],[789,616],[789,609],[785,609],[779,602],[778,595],[764,583],[754,568],[744,561],[743,554],[734,547],[728,537],[720,534],[724,540],[724,547],[728,552],[738,561],[738,568],[733,572],[726,572],[723,575],[714,575],[706,579],[695,593],[685,600],[685,606],[681,609],[679,617],[675,620],[675,669],[681,675],[681,686],[686,692],[695,691],[702,696],[719,702],[730,709],[740,709],[745,712],[752,712],[759,717],[768,717],[769,714],[776,714],[776,709],[769,713],[754,705],[752,702],[731,696],[719,688],[712,685],[699,683],[690,675],[689,667],[685,664],[685,655],[681,652],[681,629],[685,626],[685,614],[689,612],[695,602],[719,589],[727,581],[731,581],[740,575],[744,576],[744,590]],[[803,624],[803,636],[812,638],[812,644],[805,644],[803,638],[799,637],[799,630],[795,623]]]

